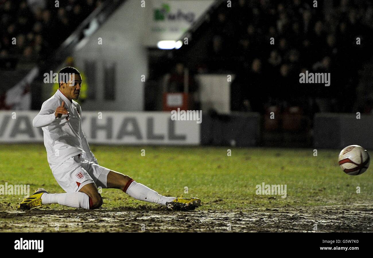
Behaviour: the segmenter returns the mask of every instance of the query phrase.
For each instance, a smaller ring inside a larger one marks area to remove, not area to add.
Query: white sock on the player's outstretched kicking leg
[[[149,187],[133,181],[127,188],[126,194],[134,197],[140,201],[148,201],[150,203],[166,205],[166,202],[173,201],[175,197],[166,197],[160,195],[156,191],[150,189]]]

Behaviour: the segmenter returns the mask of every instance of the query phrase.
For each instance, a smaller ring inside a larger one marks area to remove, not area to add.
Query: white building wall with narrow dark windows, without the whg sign
[[[76,47],[77,67],[84,67],[94,99],[84,110],[142,111],[144,82],[148,76],[147,48],[143,46],[146,8],[136,0],[123,3],[112,16]],[[99,44],[99,38],[102,44]]]

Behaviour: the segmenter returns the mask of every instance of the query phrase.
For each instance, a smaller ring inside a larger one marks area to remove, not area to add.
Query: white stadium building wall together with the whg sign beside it
[[[89,85],[83,109],[143,111],[148,47],[156,48],[161,40],[178,40],[213,3],[151,0],[143,7],[137,0],[125,1],[73,52],[75,65],[83,68]]]

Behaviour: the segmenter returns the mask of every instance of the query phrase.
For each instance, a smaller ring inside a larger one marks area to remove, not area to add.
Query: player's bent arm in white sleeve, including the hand
[[[58,101],[48,101],[41,106],[39,114],[32,120],[32,126],[39,128],[45,127],[61,118],[62,115],[69,115],[69,111],[65,108],[65,102],[62,101],[59,106]],[[57,108],[56,108],[57,106]],[[68,118],[66,118],[68,119]]]

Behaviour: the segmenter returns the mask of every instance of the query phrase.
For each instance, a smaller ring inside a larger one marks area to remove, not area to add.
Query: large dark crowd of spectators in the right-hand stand
[[[310,115],[351,111],[357,71],[372,54],[373,4],[329,1],[324,9],[327,1],[318,2],[238,0],[231,12],[225,2],[219,7],[210,22],[206,64],[208,72],[236,73],[233,110],[263,113],[277,105],[299,106]],[[330,73],[331,86],[301,85],[299,74],[306,70]]]

